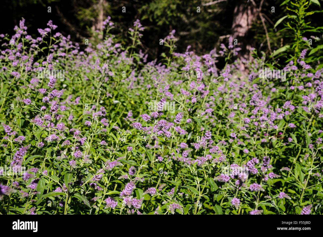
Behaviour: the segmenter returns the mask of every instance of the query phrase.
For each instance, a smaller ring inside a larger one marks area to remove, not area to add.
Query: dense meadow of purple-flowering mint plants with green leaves
[[[322,214],[323,70],[306,49],[261,78],[265,54],[232,60],[232,38],[198,56],[172,31],[147,62],[138,20],[129,46],[108,18],[84,51],[47,26],[0,35],[2,214]]]

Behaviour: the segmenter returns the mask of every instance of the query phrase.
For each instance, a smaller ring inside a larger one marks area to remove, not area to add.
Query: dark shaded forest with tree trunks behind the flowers
[[[145,27],[140,49],[148,53],[149,59],[158,58],[162,53],[159,39],[176,30],[179,38],[177,51],[184,52],[188,45],[197,54],[207,53],[226,43],[230,35],[238,39],[243,48],[240,57],[248,57],[246,49],[254,47],[267,55],[273,50],[292,41],[283,24],[274,28],[278,19],[286,16],[286,1],[264,0],[3,0],[1,8],[0,33],[14,33],[14,26],[24,17],[28,34],[38,36],[37,28],[46,28],[48,20],[58,26],[57,31],[71,36],[80,43],[88,38],[92,44],[99,42],[95,30],[111,17],[116,27],[114,32],[125,40],[128,28],[136,19]],[[294,0],[297,2],[297,0]],[[280,6],[282,5],[283,6]],[[48,12],[48,7],[51,12]],[[126,12],[122,12],[126,7]],[[274,8],[273,8],[274,7]],[[312,4],[308,10],[319,11]],[[317,27],[322,13],[308,17],[311,26]],[[307,37],[311,37],[309,34]],[[314,35],[321,39],[322,36]],[[284,42],[283,42],[284,41]],[[127,43],[127,42],[125,42]]]

